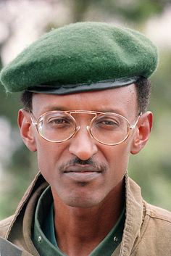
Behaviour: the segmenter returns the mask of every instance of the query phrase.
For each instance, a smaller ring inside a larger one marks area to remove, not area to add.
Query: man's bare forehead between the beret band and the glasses
[[[135,85],[67,95],[33,94],[33,111],[37,115],[50,110],[133,113],[137,110]]]

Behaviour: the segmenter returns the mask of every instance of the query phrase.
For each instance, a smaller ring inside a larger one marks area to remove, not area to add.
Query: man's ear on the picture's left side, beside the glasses
[[[18,126],[20,128],[20,135],[25,145],[30,149],[30,151],[35,152],[36,149],[36,139],[33,133],[33,126],[30,119],[30,113],[26,110],[19,110],[18,112]]]

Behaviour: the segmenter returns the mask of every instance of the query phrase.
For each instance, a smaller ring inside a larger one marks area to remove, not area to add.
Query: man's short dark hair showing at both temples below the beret
[[[151,82],[147,78],[140,77],[136,82],[136,91],[138,98],[138,112],[144,113],[149,105],[149,99],[151,94]],[[23,91],[21,94],[21,102],[23,108],[27,111],[32,110],[32,97],[33,92]]]

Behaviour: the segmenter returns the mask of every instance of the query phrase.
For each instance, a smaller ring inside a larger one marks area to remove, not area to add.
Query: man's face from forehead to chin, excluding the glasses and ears
[[[64,96],[33,95],[36,118],[50,110],[115,112],[126,117],[132,125],[138,117],[135,86]],[[75,115],[80,131],[62,143],[46,141],[36,127],[31,126],[42,175],[50,184],[54,197],[72,207],[92,207],[103,202],[109,194],[117,195],[135,136],[136,128],[122,144],[101,144],[92,139],[86,129],[91,118],[87,114]]]

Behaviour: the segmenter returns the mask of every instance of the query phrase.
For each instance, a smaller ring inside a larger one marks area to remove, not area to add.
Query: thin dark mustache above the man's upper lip
[[[59,171],[64,172],[64,170],[66,170],[68,167],[74,165],[89,165],[92,166],[92,168],[96,168],[96,170],[100,172],[104,172],[108,169],[108,165],[104,164],[103,162],[96,162],[92,158],[89,158],[88,160],[80,160],[80,158],[75,157],[68,162],[61,163],[61,165],[59,165]]]

